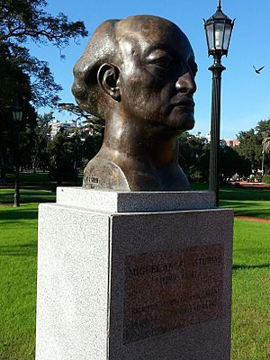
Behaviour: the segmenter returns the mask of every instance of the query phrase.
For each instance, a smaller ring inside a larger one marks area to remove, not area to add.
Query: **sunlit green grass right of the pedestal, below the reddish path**
[[[235,220],[231,360],[270,359],[270,224]]]

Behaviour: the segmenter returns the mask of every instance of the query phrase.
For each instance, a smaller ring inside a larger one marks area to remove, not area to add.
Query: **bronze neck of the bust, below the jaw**
[[[113,116],[106,122],[99,155],[117,165],[150,166],[157,170],[178,166],[178,140],[175,131],[136,120]]]

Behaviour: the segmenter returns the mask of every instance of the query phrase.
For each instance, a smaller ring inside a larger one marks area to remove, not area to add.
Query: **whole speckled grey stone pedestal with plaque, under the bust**
[[[229,360],[233,213],[213,204],[58,188],[40,205],[36,360]]]

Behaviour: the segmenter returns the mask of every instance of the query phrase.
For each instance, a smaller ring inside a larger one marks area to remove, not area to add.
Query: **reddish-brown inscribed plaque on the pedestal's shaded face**
[[[123,344],[222,316],[223,246],[125,258]]]

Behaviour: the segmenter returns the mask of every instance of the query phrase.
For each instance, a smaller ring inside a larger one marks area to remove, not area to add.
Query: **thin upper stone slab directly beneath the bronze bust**
[[[58,187],[57,203],[94,211],[140,212],[213,209],[214,193],[111,192],[82,187]]]

